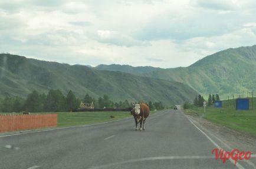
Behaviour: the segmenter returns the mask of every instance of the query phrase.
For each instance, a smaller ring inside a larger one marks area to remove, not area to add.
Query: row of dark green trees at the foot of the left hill
[[[8,97],[0,99],[0,112],[64,112],[78,109],[80,103],[94,103],[94,108],[125,108],[132,107],[132,102],[124,100],[124,102],[113,102],[107,94],[103,97],[95,99],[89,94],[86,94],[83,99],[77,98],[70,90],[66,96],[60,90],[50,90],[47,94],[38,93],[34,90],[28,94],[27,98],[22,97]],[[164,108],[161,102],[148,103],[150,110],[162,110]]]

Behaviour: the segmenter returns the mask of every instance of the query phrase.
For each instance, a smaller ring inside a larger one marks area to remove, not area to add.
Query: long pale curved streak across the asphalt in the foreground
[[[113,165],[122,165],[127,163],[136,163],[140,161],[150,161],[150,160],[193,160],[193,159],[214,159],[214,156],[162,156],[162,157],[147,157],[147,158],[139,158],[133,160],[127,160],[117,163],[105,164],[100,166],[91,166],[90,169],[99,169],[99,168],[107,168],[113,167]]]

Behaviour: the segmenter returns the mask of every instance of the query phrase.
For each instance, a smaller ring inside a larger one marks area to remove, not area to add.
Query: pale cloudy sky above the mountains
[[[255,44],[254,0],[0,1],[0,53],[27,58],[170,68]]]

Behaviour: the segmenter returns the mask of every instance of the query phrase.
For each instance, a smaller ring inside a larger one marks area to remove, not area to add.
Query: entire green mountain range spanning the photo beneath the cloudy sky
[[[78,97],[108,94],[114,101],[192,102],[196,94],[242,95],[256,88],[256,45],[230,48],[188,67],[68,65],[0,54],[0,97],[27,96],[32,90],[68,90]]]

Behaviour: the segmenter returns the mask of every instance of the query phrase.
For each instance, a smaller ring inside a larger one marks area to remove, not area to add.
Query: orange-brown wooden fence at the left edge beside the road
[[[0,116],[0,133],[44,127],[57,127],[57,114],[31,114]]]

